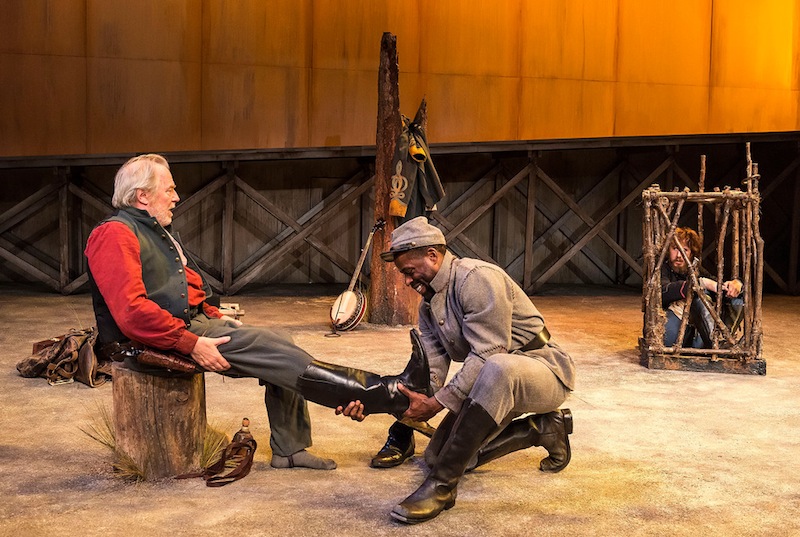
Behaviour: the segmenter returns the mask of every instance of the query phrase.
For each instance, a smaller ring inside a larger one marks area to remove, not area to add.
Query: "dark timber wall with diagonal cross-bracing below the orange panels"
[[[530,293],[551,284],[635,288],[641,285],[642,189],[658,183],[664,191],[696,190],[701,155],[707,155],[707,190],[738,186],[744,177],[739,139],[601,142],[531,151],[434,146],[446,196],[433,221],[454,252],[496,262]],[[767,291],[800,292],[798,148],[798,134],[753,143]],[[182,198],[175,227],[191,254],[226,293],[275,283],[339,283],[343,290],[373,223],[374,157],[257,156],[169,155]],[[122,161],[0,167],[0,183],[13,184],[0,200],[0,282],[85,289],[83,247],[110,212]],[[337,205],[348,192],[356,194]],[[681,224],[696,225],[692,216]],[[706,216],[709,229],[713,220]]]

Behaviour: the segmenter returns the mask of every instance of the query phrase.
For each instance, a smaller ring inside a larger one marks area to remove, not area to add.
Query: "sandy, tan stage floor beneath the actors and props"
[[[800,298],[764,300],[766,376],[649,370],[639,365],[641,296],[571,290],[534,297],[550,331],[574,357],[578,389],[573,459],[538,471],[533,448],[467,475],[455,507],[404,526],[392,506],[424,478],[417,456],[367,466],[392,420],[364,423],[310,405],[316,453],[331,472],[269,466],[263,392],[252,379],[206,375],[211,424],[233,433],[243,416],[259,442],[249,476],[222,488],[201,480],[131,485],[110,454],[80,431],[111,405],[111,386],[49,386],[15,364],[31,343],[93,324],[88,295],[3,289],[0,332],[0,535],[800,535]],[[231,299],[251,324],[290,330],[315,357],[395,373],[409,327],[364,323],[327,338],[333,297],[250,292]],[[438,418],[433,420],[434,424]]]

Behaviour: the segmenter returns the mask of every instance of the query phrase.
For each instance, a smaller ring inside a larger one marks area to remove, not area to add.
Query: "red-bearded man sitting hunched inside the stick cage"
[[[675,239],[683,246],[689,262],[693,264],[698,275],[698,282],[708,295],[720,290],[724,294],[722,319],[732,332],[741,320],[744,301],[739,296],[742,292],[742,282],[732,279],[721,285],[711,275],[695,263],[702,251],[700,236],[691,228],[677,228]],[[687,291],[690,283],[689,267],[681,254],[678,246],[673,242],[669,249],[669,260],[661,265],[661,307],[667,316],[664,327],[664,345],[676,344],[680,331],[681,319],[686,307]],[[692,296],[689,306],[689,319],[684,332],[683,347],[711,348],[711,333],[714,329],[714,320],[703,304],[702,299],[696,294]]]

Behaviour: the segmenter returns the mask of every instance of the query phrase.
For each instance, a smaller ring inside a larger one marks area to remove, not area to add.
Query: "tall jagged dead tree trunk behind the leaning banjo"
[[[385,32],[381,38],[378,70],[378,131],[375,151],[375,221],[386,226],[373,236],[370,259],[369,321],[375,324],[416,324],[419,295],[403,283],[393,263],[386,263],[380,253],[389,249],[394,217],[389,215],[392,160],[401,132],[399,67],[397,37]],[[422,105],[420,105],[422,107]]]

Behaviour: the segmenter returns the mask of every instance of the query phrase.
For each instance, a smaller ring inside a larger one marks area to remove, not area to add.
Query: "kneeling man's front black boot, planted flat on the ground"
[[[417,524],[436,517],[456,503],[458,480],[470,459],[497,423],[478,403],[467,399],[436,464],[420,487],[392,509],[392,518]]]

